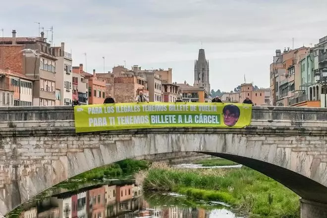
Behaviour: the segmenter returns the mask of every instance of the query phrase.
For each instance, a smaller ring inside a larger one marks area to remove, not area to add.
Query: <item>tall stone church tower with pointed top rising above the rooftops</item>
[[[194,86],[204,88],[210,95],[209,60],[206,60],[204,49],[199,50],[199,57],[194,63]]]

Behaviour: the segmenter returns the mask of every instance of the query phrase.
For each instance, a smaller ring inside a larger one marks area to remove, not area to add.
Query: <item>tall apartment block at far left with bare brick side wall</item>
[[[33,106],[55,105],[55,56],[44,32],[41,37],[0,38],[0,68],[34,79]]]

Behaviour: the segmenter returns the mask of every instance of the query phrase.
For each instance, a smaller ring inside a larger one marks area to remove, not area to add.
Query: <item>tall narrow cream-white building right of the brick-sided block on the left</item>
[[[59,95],[56,95],[56,100],[59,100],[59,105],[71,105],[74,97],[77,98],[77,87],[72,84],[71,54],[65,51],[65,43],[63,42],[60,47],[52,47],[51,49],[52,54],[57,59],[55,61],[55,90],[59,90]]]

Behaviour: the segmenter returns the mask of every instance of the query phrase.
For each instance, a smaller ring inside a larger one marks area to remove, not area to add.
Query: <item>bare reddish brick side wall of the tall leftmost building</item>
[[[17,73],[24,73],[23,53],[24,45],[1,46],[0,45],[0,68],[9,68]]]

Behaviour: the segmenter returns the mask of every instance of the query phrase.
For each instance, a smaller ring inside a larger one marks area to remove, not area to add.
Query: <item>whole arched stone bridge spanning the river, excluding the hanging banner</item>
[[[0,108],[0,215],[87,170],[127,158],[199,152],[249,166],[327,217],[327,109],[254,107],[242,129],[163,128],[75,133],[71,107]]]

